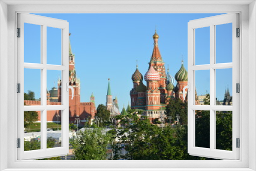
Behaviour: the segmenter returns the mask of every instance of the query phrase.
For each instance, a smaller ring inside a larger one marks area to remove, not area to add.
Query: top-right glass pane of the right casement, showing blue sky
[[[232,23],[216,26],[216,63],[232,62]]]

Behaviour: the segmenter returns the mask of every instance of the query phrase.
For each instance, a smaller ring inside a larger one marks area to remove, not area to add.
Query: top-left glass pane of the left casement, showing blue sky
[[[41,26],[24,23],[24,62],[41,62]]]

